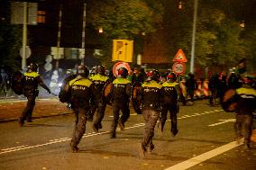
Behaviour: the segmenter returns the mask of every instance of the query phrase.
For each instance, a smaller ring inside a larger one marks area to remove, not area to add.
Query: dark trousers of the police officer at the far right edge
[[[242,128],[244,127],[244,143],[250,144],[252,134],[252,115],[236,114],[234,131],[237,138],[242,137]]]

